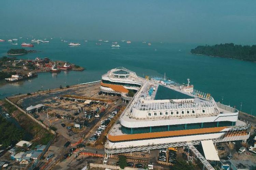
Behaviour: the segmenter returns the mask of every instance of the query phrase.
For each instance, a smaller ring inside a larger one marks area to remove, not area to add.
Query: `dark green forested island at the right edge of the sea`
[[[233,43],[216,44],[213,46],[205,45],[197,46],[190,53],[256,62],[256,45],[242,46],[234,45]]]

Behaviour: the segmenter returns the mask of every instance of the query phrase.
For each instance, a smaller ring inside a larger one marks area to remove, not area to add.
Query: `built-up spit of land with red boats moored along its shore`
[[[83,71],[84,68],[64,61],[51,61],[36,57],[34,60],[17,59],[15,56],[0,57],[0,80],[16,82],[37,77],[38,72]]]

